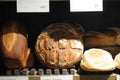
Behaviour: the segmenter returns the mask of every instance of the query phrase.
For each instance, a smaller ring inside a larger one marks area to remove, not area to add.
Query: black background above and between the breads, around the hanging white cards
[[[29,47],[34,53],[37,36],[52,23],[79,23],[85,31],[101,27],[120,27],[119,0],[103,0],[103,12],[70,12],[69,6],[68,0],[51,1],[49,13],[17,13],[16,2],[0,2],[0,29],[9,21],[23,23],[29,36]],[[4,69],[0,72],[4,72]]]

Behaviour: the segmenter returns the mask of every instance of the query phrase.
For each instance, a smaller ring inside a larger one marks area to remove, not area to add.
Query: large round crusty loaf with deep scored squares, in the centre
[[[49,68],[69,68],[83,55],[83,28],[69,23],[54,23],[38,36],[35,50],[38,60]],[[79,33],[78,33],[79,32]]]

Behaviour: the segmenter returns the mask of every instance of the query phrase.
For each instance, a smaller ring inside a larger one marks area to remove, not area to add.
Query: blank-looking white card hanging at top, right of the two
[[[71,12],[103,11],[103,0],[70,0]]]

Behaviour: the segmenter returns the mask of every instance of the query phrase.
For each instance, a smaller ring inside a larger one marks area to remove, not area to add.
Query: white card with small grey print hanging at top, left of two
[[[17,12],[49,12],[49,0],[17,0]]]

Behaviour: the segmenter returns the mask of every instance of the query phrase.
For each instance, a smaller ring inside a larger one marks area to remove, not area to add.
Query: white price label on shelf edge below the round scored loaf
[[[41,80],[73,80],[72,75],[41,76]]]

